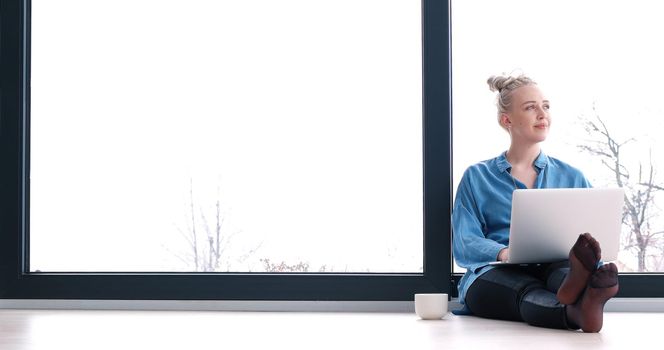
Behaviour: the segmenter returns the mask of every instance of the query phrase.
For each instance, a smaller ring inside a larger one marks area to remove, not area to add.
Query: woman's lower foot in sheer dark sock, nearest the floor
[[[618,268],[609,263],[601,266],[590,277],[581,299],[567,306],[567,318],[586,333],[602,329],[604,304],[618,293]]]

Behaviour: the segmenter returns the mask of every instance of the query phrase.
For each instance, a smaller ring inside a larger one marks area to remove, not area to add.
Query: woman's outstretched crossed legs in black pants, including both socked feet
[[[618,292],[616,266],[597,268],[600,258],[599,243],[583,234],[570,250],[569,265],[494,268],[471,285],[466,305],[480,317],[599,332],[604,304]]]

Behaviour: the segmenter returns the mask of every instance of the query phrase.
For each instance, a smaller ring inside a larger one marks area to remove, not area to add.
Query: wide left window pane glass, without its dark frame
[[[34,0],[30,270],[421,271],[420,7]]]

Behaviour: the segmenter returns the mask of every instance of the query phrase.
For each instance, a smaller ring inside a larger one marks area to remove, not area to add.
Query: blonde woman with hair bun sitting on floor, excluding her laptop
[[[524,188],[590,187],[583,174],[540,149],[551,127],[549,100],[526,76],[493,76],[498,123],[510,135],[500,156],[469,167],[452,212],[454,256],[467,272],[459,282],[465,311],[548,328],[599,332],[604,304],[618,292],[618,269],[600,266],[591,234],[579,236],[563,263],[495,266],[509,256],[512,192]]]

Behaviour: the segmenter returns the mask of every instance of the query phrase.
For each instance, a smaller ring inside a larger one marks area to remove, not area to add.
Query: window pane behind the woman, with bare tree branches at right
[[[599,0],[452,1],[454,188],[467,166],[509,146],[487,78],[523,72],[552,102],[543,150],[580,168],[596,187],[626,189],[627,207],[634,211],[624,219],[620,270],[664,271],[664,143],[658,137],[664,130],[658,102],[664,50],[654,44],[664,31],[662,9],[645,0],[629,6]],[[599,130],[588,129],[589,122]],[[613,170],[617,165],[620,176]]]

